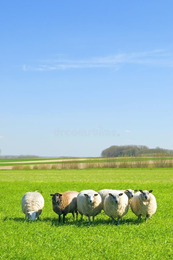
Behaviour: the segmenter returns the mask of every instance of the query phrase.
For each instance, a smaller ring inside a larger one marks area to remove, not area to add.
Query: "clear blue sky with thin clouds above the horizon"
[[[1,2],[1,154],[173,149],[172,11],[172,1]]]

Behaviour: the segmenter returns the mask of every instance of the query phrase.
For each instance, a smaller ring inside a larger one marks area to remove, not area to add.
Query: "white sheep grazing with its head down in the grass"
[[[30,219],[31,221],[39,219],[42,209],[44,207],[44,198],[43,196],[35,192],[27,192],[24,194],[21,200],[22,212],[25,214],[25,220]]]

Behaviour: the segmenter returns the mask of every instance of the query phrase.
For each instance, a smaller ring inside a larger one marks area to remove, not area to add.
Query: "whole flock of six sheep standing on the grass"
[[[78,212],[83,220],[83,215],[88,217],[88,223],[90,224],[91,217],[93,222],[95,216],[97,216],[103,210],[104,213],[112,219],[112,223],[115,223],[117,218],[117,225],[120,223],[120,219],[124,217],[128,210],[131,208],[132,212],[138,217],[138,222],[141,220],[141,216],[147,218],[155,213],[157,209],[156,199],[152,190],[110,190],[104,189],[96,192],[94,190],[82,190],[55,192],[50,194],[52,197],[52,209],[59,216],[59,223],[61,221],[61,215],[63,215],[63,223],[65,222],[65,216],[68,213],[72,213],[73,218],[78,219]],[[27,221],[35,221],[39,219],[44,207],[44,198],[38,192],[27,192],[24,194],[21,200],[22,212],[25,214]]]

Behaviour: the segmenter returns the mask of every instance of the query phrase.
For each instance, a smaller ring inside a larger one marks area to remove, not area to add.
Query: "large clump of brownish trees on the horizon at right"
[[[159,154],[173,156],[173,150],[163,149],[159,146],[149,148],[146,145],[112,145],[101,152],[101,157],[155,156]]]

